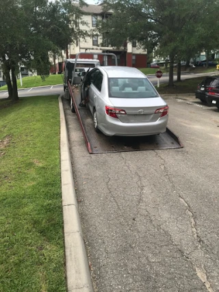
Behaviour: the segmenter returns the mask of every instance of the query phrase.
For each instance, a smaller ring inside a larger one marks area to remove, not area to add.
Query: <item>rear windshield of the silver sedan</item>
[[[146,78],[109,78],[109,96],[116,98],[158,97]]]

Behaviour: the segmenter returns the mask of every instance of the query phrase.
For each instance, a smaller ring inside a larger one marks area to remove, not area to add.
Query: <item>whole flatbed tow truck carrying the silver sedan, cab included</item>
[[[83,133],[83,137],[86,142],[89,153],[106,153],[106,152],[125,152],[125,151],[137,151],[137,150],[158,150],[158,149],[170,149],[170,148],[182,148],[179,137],[172,133],[170,129],[166,129],[165,133],[144,136],[144,137],[109,137],[103,135],[103,133],[96,133],[93,127],[92,114],[88,107],[79,107],[81,102],[81,96],[79,96],[79,84],[83,79],[86,72],[95,66],[100,66],[99,60],[86,59],[87,70],[77,70],[82,68],[80,66],[85,59],[79,59],[80,54],[88,55],[111,55],[114,56],[115,66],[117,66],[117,57],[114,53],[90,53],[79,52],[75,55],[75,59],[66,60],[66,70],[64,72],[64,97],[70,103],[70,110],[77,114],[79,124]]]

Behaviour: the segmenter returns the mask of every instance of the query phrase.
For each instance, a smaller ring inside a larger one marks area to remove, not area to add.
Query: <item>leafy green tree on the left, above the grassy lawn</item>
[[[9,97],[17,101],[20,64],[47,76],[48,53],[60,52],[74,42],[78,34],[75,20],[81,12],[70,0],[0,0],[0,5],[0,62]]]

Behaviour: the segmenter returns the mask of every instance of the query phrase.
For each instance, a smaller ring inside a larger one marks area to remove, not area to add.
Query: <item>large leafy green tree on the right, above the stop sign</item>
[[[114,14],[99,23],[100,33],[107,31],[108,41],[116,47],[125,40],[137,40],[149,51],[156,47],[159,55],[168,56],[170,86],[174,85],[175,60],[180,62],[188,52],[201,50],[203,38],[195,36],[196,28],[204,30],[209,19],[205,16],[213,9],[218,11],[218,1],[213,0],[105,0],[103,5]]]

